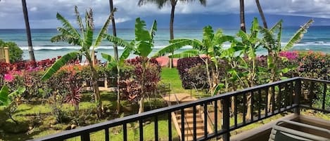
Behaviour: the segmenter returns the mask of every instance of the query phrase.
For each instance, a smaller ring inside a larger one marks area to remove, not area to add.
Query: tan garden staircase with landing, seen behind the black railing
[[[163,97],[167,101],[168,105],[177,105],[184,102],[191,102],[197,100],[196,98],[191,98],[188,94],[171,94]],[[196,113],[193,113],[193,108],[184,109],[184,140],[193,140],[193,114],[196,114],[196,138],[204,136],[204,119],[203,111],[200,107],[196,107]],[[182,115],[181,111],[172,112],[172,123],[177,130],[177,133],[182,138]],[[208,123],[207,127],[208,133],[212,130],[210,124]]]

